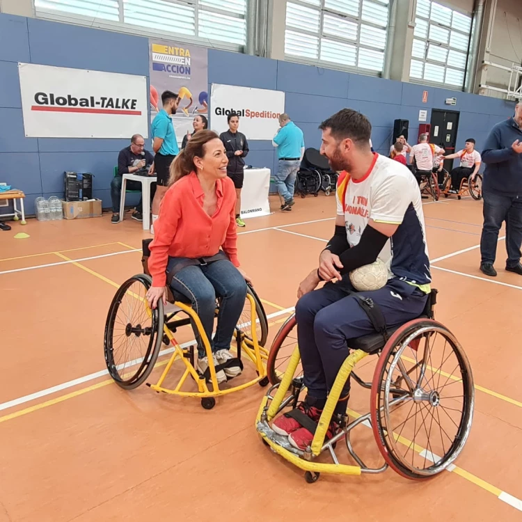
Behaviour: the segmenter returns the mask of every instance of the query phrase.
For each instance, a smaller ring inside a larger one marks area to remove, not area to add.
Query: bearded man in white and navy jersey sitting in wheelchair
[[[370,122],[342,109],[319,126],[321,153],[338,180],[335,233],[299,285],[297,336],[308,393],[297,409],[273,422],[276,433],[304,450],[313,439],[326,397],[347,358],[347,339],[374,332],[349,281],[349,272],[379,258],[388,266],[385,287],[358,295],[379,306],[388,327],[418,317],[431,275],[418,185],[407,168],[370,150]],[[431,165],[430,165],[431,170]],[[321,281],[326,284],[315,290]],[[347,382],[329,427],[331,437],[346,413]]]

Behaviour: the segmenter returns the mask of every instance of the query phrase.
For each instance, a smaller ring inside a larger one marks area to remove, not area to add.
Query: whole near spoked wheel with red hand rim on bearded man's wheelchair
[[[474,397],[468,358],[445,326],[416,319],[395,331],[370,396],[375,440],[390,468],[417,480],[448,468],[466,444]]]

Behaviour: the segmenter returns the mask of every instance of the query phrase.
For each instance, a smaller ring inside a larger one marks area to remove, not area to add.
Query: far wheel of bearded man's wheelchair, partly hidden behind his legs
[[[297,323],[295,314],[292,314],[280,327],[268,354],[267,375],[271,385],[278,384],[283,379],[283,374],[296,345]],[[299,362],[294,379],[302,376],[303,368]]]

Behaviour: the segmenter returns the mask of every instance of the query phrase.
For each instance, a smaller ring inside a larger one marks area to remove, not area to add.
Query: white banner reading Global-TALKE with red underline
[[[19,63],[28,138],[148,138],[147,77]]]

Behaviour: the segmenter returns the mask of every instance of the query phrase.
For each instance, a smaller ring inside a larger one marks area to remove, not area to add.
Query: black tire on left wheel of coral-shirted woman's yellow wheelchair
[[[156,364],[159,355],[159,350],[161,348],[161,342],[163,340],[164,310],[163,303],[160,301],[158,303],[157,308],[155,310],[152,310],[150,329],[148,329],[147,333],[143,333],[143,335],[150,335],[150,341],[148,343],[148,347],[145,351],[145,354],[143,355],[143,357],[141,357],[141,361],[137,359],[139,362],[131,366],[136,367],[136,372],[134,372],[133,374],[120,374],[120,372],[118,371],[118,366],[120,365],[117,365],[114,361],[113,334],[116,316],[118,314],[118,309],[120,308],[122,299],[125,296],[129,287],[132,287],[134,283],[139,283],[140,285],[143,285],[143,287],[145,288],[145,292],[147,292],[147,290],[150,288],[150,285],[152,285],[152,279],[150,278],[150,276],[147,276],[145,274],[139,274],[127,279],[125,283],[123,283],[118,288],[111,302],[111,306],[109,307],[109,313],[107,314],[104,332],[104,356],[107,370],[109,371],[109,375],[114,379],[116,384],[118,384],[118,386],[124,388],[125,390],[132,390],[134,388],[137,388],[145,381],[145,379],[147,379],[147,377],[149,376],[150,372],[152,372],[152,369]],[[145,304],[139,303],[139,306],[145,306]],[[125,335],[127,335],[127,333]],[[129,337],[130,335],[132,334],[129,333],[127,337]],[[125,367],[125,363],[123,364]]]

